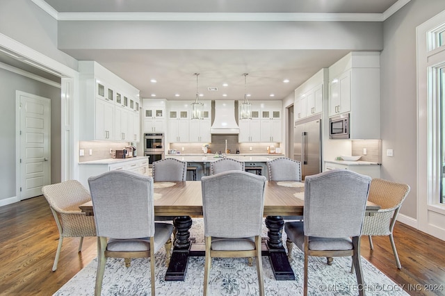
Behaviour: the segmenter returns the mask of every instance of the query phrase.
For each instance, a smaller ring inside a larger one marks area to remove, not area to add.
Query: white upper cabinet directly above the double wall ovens
[[[165,99],[143,99],[144,133],[166,130]]]

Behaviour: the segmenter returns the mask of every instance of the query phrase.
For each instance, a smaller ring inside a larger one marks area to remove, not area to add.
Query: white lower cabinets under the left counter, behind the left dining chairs
[[[90,176],[97,176],[112,170],[128,170],[149,176],[148,157],[142,156],[124,159],[108,158],[100,161],[79,163],[79,181],[88,189],[88,178]]]

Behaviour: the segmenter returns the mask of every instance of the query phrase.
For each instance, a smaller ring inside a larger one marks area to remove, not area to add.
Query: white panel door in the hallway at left
[[[51,100],[19,93],[20,199],[42,195],[51,183]]]

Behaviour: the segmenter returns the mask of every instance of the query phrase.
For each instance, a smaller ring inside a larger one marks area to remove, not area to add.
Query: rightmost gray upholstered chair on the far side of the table
[[[301,163],[280,157],[267,162],[269,181],[301,181]],[[302,220],[302,216],[284,216],[284,220]]]

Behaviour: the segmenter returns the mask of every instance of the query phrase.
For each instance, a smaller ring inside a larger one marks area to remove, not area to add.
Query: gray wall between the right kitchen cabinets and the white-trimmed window
[[[416,26],[444,9],[444,0],[412,0],[383,25],[382,178],[410,184],[401,213],[413,218],[417,217]],[[386,156],[387,149],[394,149],[394,157]]]

